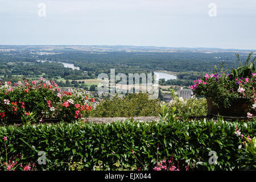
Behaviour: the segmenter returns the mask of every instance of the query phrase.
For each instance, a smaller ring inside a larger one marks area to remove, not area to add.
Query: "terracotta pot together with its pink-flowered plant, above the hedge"
[[[195,85],[191,86],[194,96],[205,96],[207,98],[208,113],[211,115],[222,115],[227,117],[249,117],[255,114],[256,108],[256,73],[254,67],[254,57],[251,60],[249,54],[245,64],[242,66],[240,56],[237,54],[240,67],[228,71],[211,75],[195,80]]]

